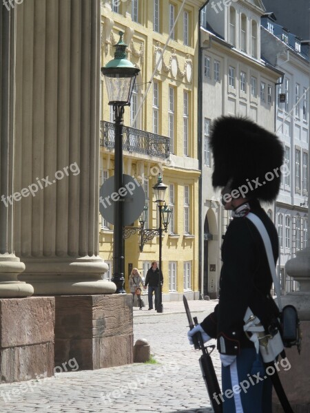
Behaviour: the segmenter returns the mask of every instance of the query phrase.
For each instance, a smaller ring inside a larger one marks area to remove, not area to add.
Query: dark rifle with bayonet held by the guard
[[[198,320],[197,317],[194,317],[193,321],[185,295],[183,295],[183,303],[189,322],[189,329],[192,330],[194,326],[197,326]],[[215,413],[223,413],[223,399],[220,397],[222,392],[220,391],[220,385],[218,384],[218,379],[210,356],[215,346],[205,346],[200,332],[193,336],[193,343],[195,350],[202,350],[203,352],[203,355],[200,356],[199,364],[213,410]],[[211,348],[211,351],[208,350],[209,348]]]

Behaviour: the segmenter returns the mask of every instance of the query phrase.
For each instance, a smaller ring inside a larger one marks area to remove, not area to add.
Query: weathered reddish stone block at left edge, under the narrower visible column
[[[54,374],[54,297],[0,299],[1,383]]]

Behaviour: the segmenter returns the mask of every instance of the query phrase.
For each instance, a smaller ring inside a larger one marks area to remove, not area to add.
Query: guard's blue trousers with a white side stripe
[[[271,379],[265,373],[265,368],[264,374],[256,372],[251,375],[255,360],[256,350],[244,348],[234,363],[222,366],[223,413],[272,412]]]

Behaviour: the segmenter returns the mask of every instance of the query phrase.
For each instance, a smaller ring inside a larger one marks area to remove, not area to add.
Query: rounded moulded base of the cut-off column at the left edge
[[[0,298],[30,297],[32,285],[21,282],[18,276],[25,270],[25,264],[12,254],[0,255]]]

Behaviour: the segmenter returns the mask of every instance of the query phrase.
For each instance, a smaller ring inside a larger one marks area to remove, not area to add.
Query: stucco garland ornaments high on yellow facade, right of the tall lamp
[[[157,42],[155,50],[154,50],[155,65],[158,62],[158,59],[160,59],[161,54],[162,54],[162,49],[160,47],[160,43]],[[189,54],[187,54],[185,58],[183,70],[180,70],[180,63],[179,63],[178,56],[176,55],[176,50],[172,49],[170,57],[169,57],[169,63],[165,63],[164,59],[161,59],[161,63],[158,65],[157,70],[158,72],[161,72],[161,70],[163,70],[163,72],[165,73],[171,72],[172,77],[176,78],[178,76],[179,78],[182,78],[182,79],[186,78],[187,82],[191,83],[192,65],[193,65],[192,59],[190,59]]]

